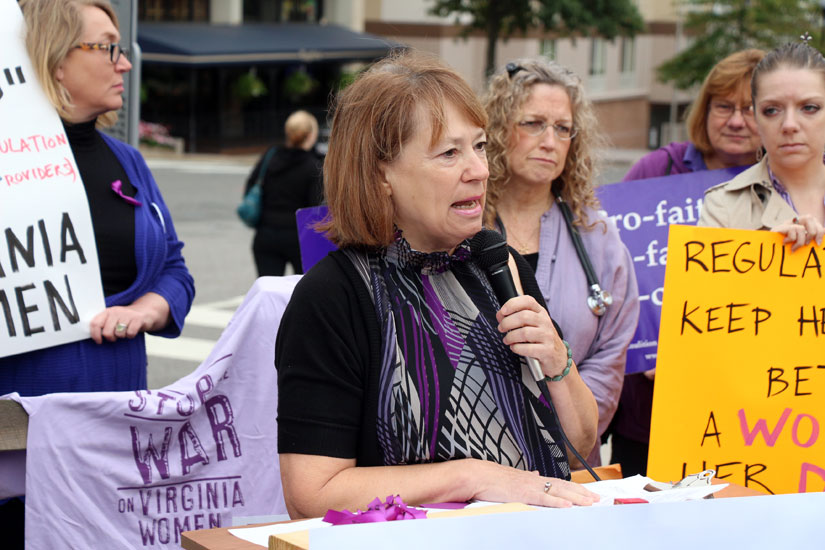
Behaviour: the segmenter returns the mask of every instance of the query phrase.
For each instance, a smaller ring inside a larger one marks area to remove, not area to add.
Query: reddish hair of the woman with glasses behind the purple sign
[[[687,113],[687,131],[693,146],[703,153],[711,153],[713,146],[708,137],[708,109],[713,96],[727,96],[739,91],[750,91],[750,81],[756,65],[765,57],[757,49],[742,50],[730,54],[713,66],[705,77],[696,99]]]

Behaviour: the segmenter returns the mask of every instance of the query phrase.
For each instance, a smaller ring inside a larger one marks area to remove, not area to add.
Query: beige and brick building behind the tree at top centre
[[[680,43],[677,8],[661,0],[636,5],[646,30],[635,38],[565,38],[534,30],[500,40],[496,66],[536,55],[567,66],[582,78],[615,147],[655,148],[681,137],[678,122],[690,96],[656,80],[656,67],[675,55]],[[438,55],[482,92],[486,38],[480,32],[462,38],[454,18],[430,15],[431,7],[429,0],[364,0],[363,30]]]

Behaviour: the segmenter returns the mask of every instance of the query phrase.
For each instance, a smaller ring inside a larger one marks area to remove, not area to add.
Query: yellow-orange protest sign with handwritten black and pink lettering
[[[671,226],[648,475],[825,487],[825,247]]]

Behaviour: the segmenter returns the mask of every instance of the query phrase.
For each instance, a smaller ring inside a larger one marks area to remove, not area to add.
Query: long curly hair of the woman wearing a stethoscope
[[[508,64],[509,66],[510,64]],[[490,179],[487,184],[487,208],[484,222],[492,226],[496,217],[496,204],[505,192],[510,180],[507,159],[509,144],[515,132],[519,111],[536,84],[560,86],[570,98],[573,126],[576,136],[570,144],[564,169],[559,179],[564,183],[562,196],[570,205],[579,226],[592,227],[586,215],[586,207],[598,208],[593,180],[598,174],[596,151],[604,148],[605,140],[598,130],[593,107],[584,95],[581,80],[570,70],[545,58],[517,59],[513,61],[512,76],[506,70],[497,72],[483,103],[490,118],[487,127],[487,162]],[[551,130],[552,131],[552,130]],[[550,182],[547,192],[550,193]]]

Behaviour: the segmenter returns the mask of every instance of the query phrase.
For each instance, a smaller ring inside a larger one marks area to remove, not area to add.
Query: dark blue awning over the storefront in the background
[[[372,60],[398,44],[337,25],[141,23],[146,63],[210,66]]]

